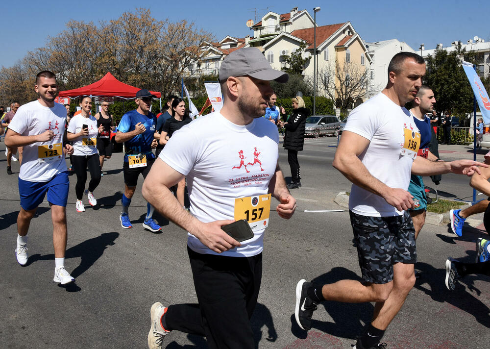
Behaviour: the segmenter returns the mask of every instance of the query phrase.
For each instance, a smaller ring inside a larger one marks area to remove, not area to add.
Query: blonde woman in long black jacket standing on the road
[[[289,189],[294,189],[301,186],[298,151],[303,150],[306,118],[310,115],[310,111],[305,108],[305,102],[301,97],[296,96],[292,101],[294,109],[293,115],[291,115],[284,123],[286,133],[284,135],[283,143],[283,147],[288,150],[288,162],[289,166],[291,166],[292,182],[288,184]],[[281,107],[281,113],[286,113],[283,107]]]

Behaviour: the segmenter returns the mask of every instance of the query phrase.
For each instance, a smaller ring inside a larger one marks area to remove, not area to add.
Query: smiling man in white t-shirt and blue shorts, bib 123
[[[53,281],[67,284],[74,278],[65,269],[66,203],[70,189],[65,154],[72,154],[73,147],[66,141],[66,109],[54,102],[58,95],[56,76],[49,71],[40,72],[34,89],[39,100],[17,110],[5,137],[6,146],[24,147],[19,174],[21,210],[17,217],[16,257],[20,265],[27,263],[27,231],[47,193],[53,223]]]

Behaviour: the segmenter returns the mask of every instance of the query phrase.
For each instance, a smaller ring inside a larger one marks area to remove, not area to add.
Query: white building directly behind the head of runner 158
[[[369,55],[372,57],[371,64],[371,88],[375,92],[380,92],[388,83],[388,65],[393,56],[398,52],[417,53],[406,42],[397,39],[366,42]]]

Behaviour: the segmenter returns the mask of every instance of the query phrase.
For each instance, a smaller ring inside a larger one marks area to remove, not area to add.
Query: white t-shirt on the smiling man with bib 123
[[[54,137],[49,142],[35,142],[24,146],[22,155],[22,166],[19,178],[31,182],[47,182],[54,175],[66,171],[66,162],[63,152],[56,144],[63,147],[63,135],[65,133],[66,109],[63,104],[54,103],[52,108],[43,106],[38,100],[34,100],[22,105],[17,109],[15,118],[8,127],[22,136],[33,136],[44,133],[46,130],[52,130]],[[40,146],[52,146],[48,161],[39,162],[40,154],[43,149]],[[60,153],[61,152],[61,153]]]

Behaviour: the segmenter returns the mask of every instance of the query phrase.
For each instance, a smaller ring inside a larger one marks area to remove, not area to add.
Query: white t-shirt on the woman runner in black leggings
[[[68,124],[68,132],[78,133],[82,130],[82,125],[89,126],[89,135],[75,138],[73,142],[73,155],[93,155],[97,153],[97,119],[92,115],[85,118],[81,114],[75,115]],[[85,141],[84,141],[85,139]],[[95,142],[91,142],[95,141]]]

